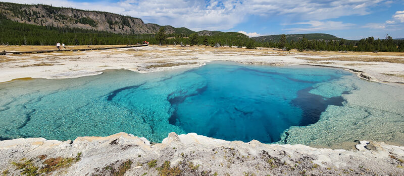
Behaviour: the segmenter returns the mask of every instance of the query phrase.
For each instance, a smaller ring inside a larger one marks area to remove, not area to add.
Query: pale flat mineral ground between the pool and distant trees
[[[266,50],[244,49],[230,52],[227,49],[213,50],[204,47],[147,46],[136,49],[78,52],[74,55],[49,53],[25,54],[22,56],[7,55],[5,57],[10,61],[0,64],[0,68],[2,69],[2,72],[0,72],[0,82],[25,77],[45,79],[76,78],[101,74],[106,69],[127,69],[139,73],[147,73],[198,67],[212,61],[234,61],[243,64],[272,66],[312,65],[341,68],[354,72],[366,80],[381,83],[404,83],[404,69],[402,69],[404,68],[404,64],[402,63],[341,61],[335,60],[339,59],[340,55],[325,57],[307,55],[307,53],[279,54]],[[304,59],[302,59],[303,57]],[[350,56],[347,55],[344,57]],[[374,56],[361,55],[361,59],[367,57],[371,58]],[[397,59],[396,57],[398,56],[391,57]],[[315,59],[320,60],[313,61]],[[402,59],[404,60],[404,56]]]

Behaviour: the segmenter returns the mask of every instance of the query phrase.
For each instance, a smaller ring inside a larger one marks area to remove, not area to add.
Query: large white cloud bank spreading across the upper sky
[[[195,31],[229,30],[251,15],[263,18],[277,18],[282,15],[296,21],[324,21],[342,16],[367,15],[371,13],[370,7],[386,3],[384,0],[301,0],[298,2],[293,0],[120,0],[117,3],[109,2],[109,0],[89,1],[88,3],[83,3],[86,0],[82,2],[71,0],[3,1],[22,4],[52,4],[58,7],[107,11],[141,18],[146,23],[187,27]],[[397,18],[401,19],[400,16]],[[316,27],[313,24],[313,27],[327,28],[323,24],[318,25]]]

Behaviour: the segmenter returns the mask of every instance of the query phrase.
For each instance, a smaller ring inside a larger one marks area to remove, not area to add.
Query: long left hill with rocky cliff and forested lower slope
[[[164,26],[166,39],[155,35],[162,26],[107,12],[83,11],[45,5],[0,2],[2,45],[119,45],[146,40],[150,44],[204,44],[251,47],[254,41],[235,32],[199,31]],[[191,36],[193,36],[191,38]]]

